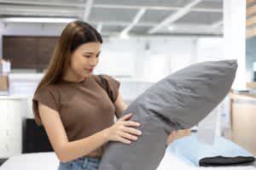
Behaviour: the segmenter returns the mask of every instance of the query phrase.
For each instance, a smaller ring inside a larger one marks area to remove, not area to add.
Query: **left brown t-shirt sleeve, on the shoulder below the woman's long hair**
[[[35,122],[38,126],[42,125],[41,118],[38,111],[38,103],[48,106],[49,108],[59,111],[58,94],[51,88],[39,89],[34,94],[32,99],[32,111],[35,118]]]

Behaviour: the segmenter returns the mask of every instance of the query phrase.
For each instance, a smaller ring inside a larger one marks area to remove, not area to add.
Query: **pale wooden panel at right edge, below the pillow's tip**
[[[232,139],[256,156],[256,105],[233,103]]]

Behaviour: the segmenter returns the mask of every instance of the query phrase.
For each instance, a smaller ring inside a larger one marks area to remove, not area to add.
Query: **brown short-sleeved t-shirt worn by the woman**
[[[57,111],[66,130],[69,141],[84,139],[106,127],[113,125],[115,107],[96,75],[87,77],[83,82],[61,80],[41,88],[34,94],[32,108],[35,121],[42,125],[38,113],[38,102]],[[104,75],[113,93],[114,101],[119,94],[119,82],[113,77]],[[119,117],[118,114],[116,116]],[[87,156],[101,157],[104,145]]]

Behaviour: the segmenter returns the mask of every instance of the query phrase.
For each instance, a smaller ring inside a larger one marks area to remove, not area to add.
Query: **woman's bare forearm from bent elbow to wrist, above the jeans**
[[[81,156],[88,155],[91,151],[96,150],[108,142],[107,129],[95,133],[87,138],[75,140],[64,144],[61,148],[59,159],[61,162],[72,161]]]

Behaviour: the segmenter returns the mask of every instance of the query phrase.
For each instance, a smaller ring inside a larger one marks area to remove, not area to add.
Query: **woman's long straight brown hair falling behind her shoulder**
[[[60,81],[69,66],[74,50],[86,42],[101,42],[102,36],[93,26],[80,20],[69,23],[61,32],[61,37],[55,46],[44,77],[39,82],[38,90]]]

